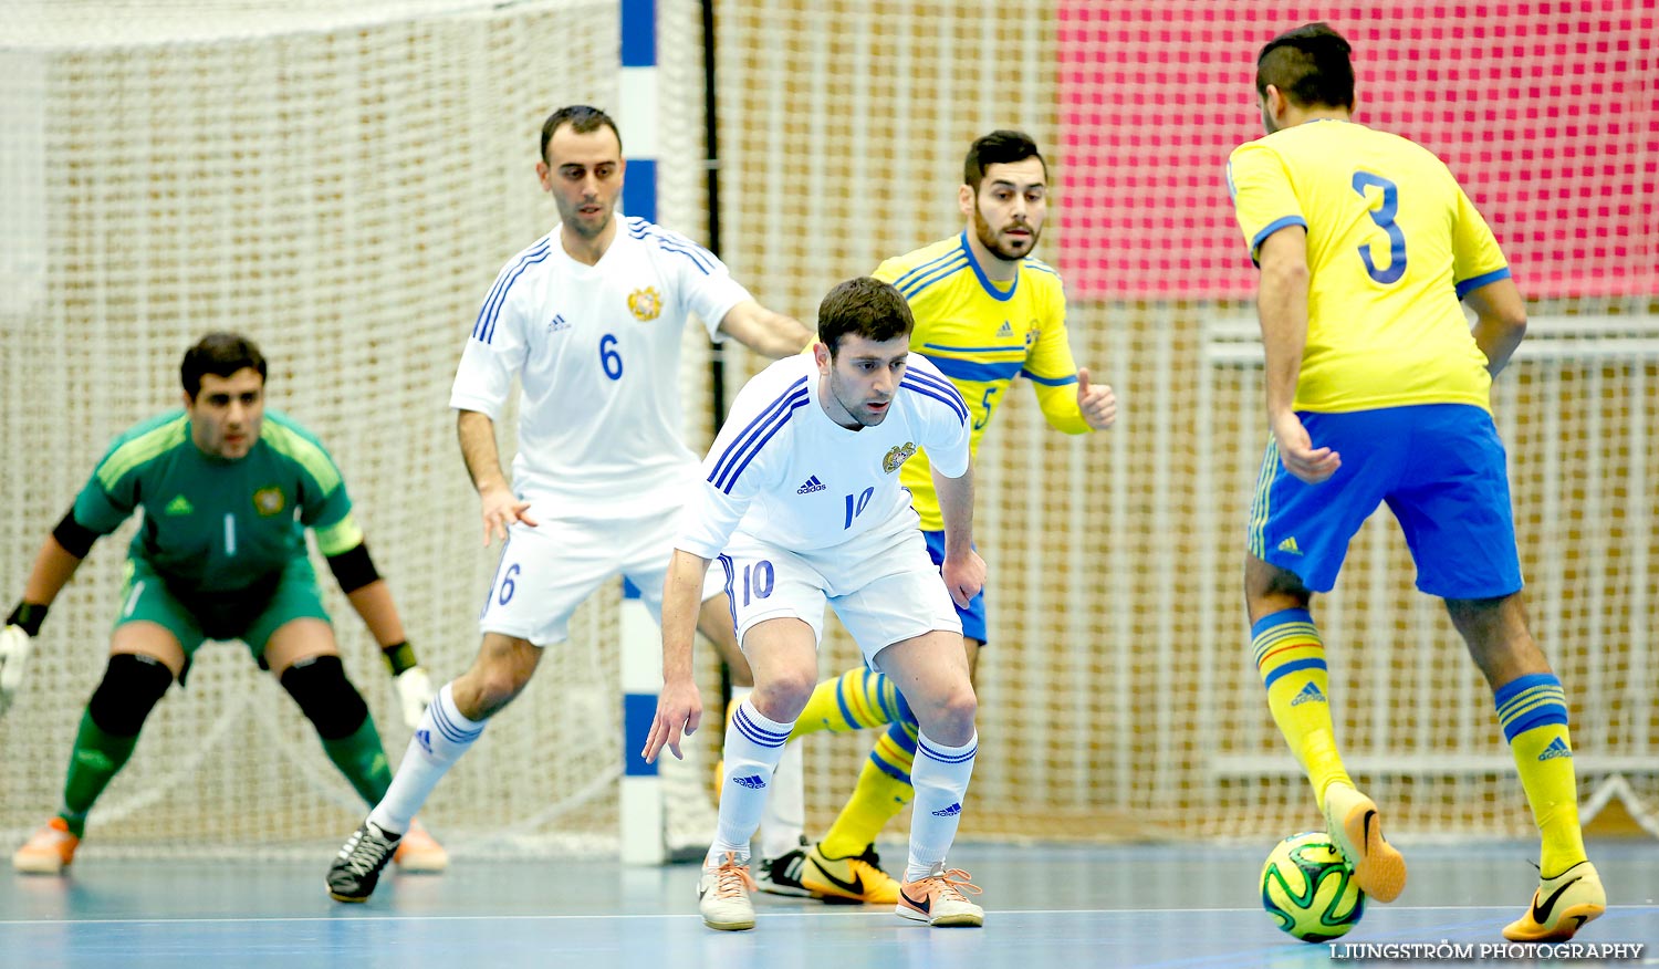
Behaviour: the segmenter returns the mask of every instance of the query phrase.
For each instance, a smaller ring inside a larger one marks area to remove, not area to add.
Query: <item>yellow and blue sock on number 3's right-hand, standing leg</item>
[[[1554,878],[1586,858],[1566,694],[1554,674],[1530,674],[1498,687],[1496,705],[1543,840],[1538,868],[1545,878]]]

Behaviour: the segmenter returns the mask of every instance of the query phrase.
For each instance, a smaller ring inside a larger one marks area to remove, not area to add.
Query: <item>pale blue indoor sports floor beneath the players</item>
[[[1528,901],[1525,845],[1404,841],[1399,903],[1344,941],[1501,942]],[[314,863],[136,861],[96,846],[66,878],[0,878],[0,964],[86,967],[352,966],[493,969],[919,969],[1326,966],[1256,901],[1267,846],[962,845],[951,863],[985,888],[984,929],[927,929],[874,906],[758,896],[752,932],[703,928],[695,868],[612,861],[466,861],[392,874],[367,904],[324,894]],[[889,848],[896,856],[898,846]],[[1659,966],[1659,841],[1591,845],[1614,903],[1578,941],[1642,942]],[[1400,962],[1390,962],[1400,964]],[[1458,962],[1463,966],[1478,962]],[[1508,961],[1506,966],[1535,964]],[[1546,961],[1536,964],[1566,964]],[[1599,962],[1579,962],[1599,964]]]

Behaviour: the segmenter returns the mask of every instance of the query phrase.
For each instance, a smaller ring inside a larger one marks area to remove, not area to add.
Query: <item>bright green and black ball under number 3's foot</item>
[[[1304,942],[1345,936],[1365,914],[1365,893],[1324,831],[1279,841],[1261,866],[1261,906]]]

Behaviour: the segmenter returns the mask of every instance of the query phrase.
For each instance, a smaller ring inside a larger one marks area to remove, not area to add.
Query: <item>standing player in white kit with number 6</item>
[[[660,614],[674,523],[697,481],[680,440],[680,337],[697,314],[710,335],[770,357],[811,338],[763,309],[707,249],[644,219],[615,219],[622,139],[597,108],[554,111],[536,174],[559,224],[514,256],[484,297],[450,407],[483,506],[484,539],[504,536],[479,619],[473,667],[438,690],[392,790],[328,869],[328,894],[363,901],[408,821],[484,723],[524,689],[541,650],[564,642],[576,607],[625,576]],[[513,483],[494,421],[521,385]],[[710,632],[732,637],[730,607]],[[554,753],[554,752],[549,752]]]

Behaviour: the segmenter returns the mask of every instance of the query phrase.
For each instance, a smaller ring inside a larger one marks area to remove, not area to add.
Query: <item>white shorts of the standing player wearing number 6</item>
[[[549,511],[549,504],[533,499],[528,514],[541,524],[508,529],[478,629],[534,645],[564,642],[576,607],[617,576],[639,587],[652,619],[660,624],[662,581],[669,574],[680,509],[606,521],[561,519]],[[725,582],[710,569],[703,599],[723,591]]]

